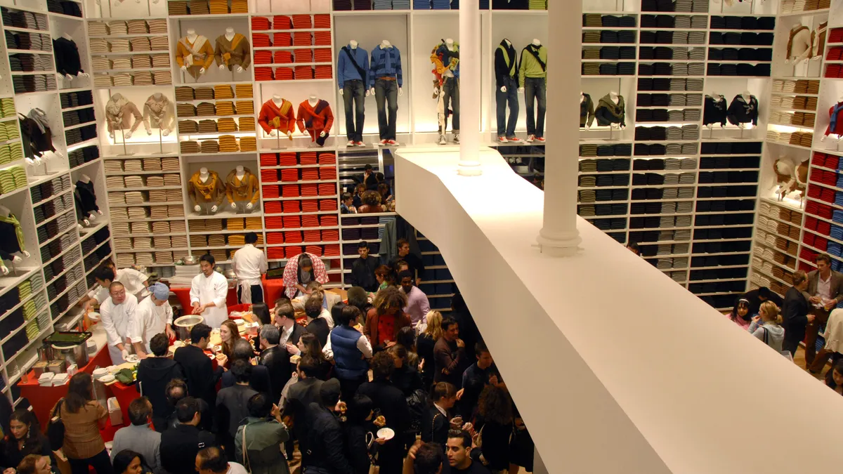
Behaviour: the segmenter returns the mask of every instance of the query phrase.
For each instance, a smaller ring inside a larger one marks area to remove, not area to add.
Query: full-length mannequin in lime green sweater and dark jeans
[[[534,39],[521,51],[518,70],[519,91],[527,104],[527,143],[545,142],[545,110],[547,110],[547,48]],[[534,110],[535,103],[539,110]]]

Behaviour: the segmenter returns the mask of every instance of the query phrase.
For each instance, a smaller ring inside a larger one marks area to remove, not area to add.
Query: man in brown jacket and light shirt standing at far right
[[[817,256],[817,269],[808,273],[808,296],[812,304],[811,314],[816,317],[805,328],[805,365],[811,368],[817,353],[819,328],[829,320],[831,310],[843,301],[843,273],[831,269],[828,254]]]

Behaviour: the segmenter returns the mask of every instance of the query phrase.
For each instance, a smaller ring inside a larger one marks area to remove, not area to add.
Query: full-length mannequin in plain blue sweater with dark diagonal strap
[[[367,70],[368,52],[359,47],[357,40],[348,41],[348,46],[340,49],[336,61],[336,80],[346,111],[346,147],[366,146],[363,143],[363,123],[366,121],[365,98],[369,95],[366,88]]]

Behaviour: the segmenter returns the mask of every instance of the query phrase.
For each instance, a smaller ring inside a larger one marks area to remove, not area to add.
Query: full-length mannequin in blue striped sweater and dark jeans
[[[389,40],[383,40],[372,50],[367,74],[368,89],[378,104],[380,145],[397,145],[395,121],[398,119],[398,97],[404,94],[401,52]]]

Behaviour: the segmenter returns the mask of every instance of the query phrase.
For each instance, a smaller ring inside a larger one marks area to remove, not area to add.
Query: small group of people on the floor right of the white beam
[[[830,388],[843,395],[843,273],[831,269],[831,257],[819,254],[817,269],[797,270],[782,299],[770,288],[755,288],[735,303],[728,318],[779,353],[792,358],[804,342],[805,369],[825,375]],[[824,344],[817,351],[820,329]]]

